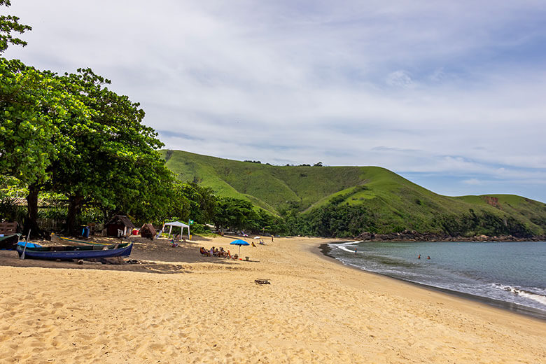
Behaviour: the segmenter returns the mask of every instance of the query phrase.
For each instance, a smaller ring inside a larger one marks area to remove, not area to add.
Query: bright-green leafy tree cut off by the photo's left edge
[[[25,230],[38,233],[38,192],[71,142],[59,125],[86,120],[89,110],[54,73],[0,58],[0,173],[28,186]]]

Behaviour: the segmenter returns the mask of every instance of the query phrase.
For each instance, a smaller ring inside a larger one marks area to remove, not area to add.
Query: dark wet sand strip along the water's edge
[[[365,241],[365,242],[367,242],[367,241]],[[445,293],[447,295],[453,295],[455,297],[460,297],[463,300],[468,300],[468,301],[472,301],[472,302],[479,302],[481,304],[486,304],[486,305],[488,305],[490,307],[495,307],[496,309],[502,309],[503,311],[512,312],[514,314],[519,314],[519,315],[522,315],[522,316],[525,316],[525,317],[534,318],[534,319],[536,319],[538,321],[546,322],[546,311],[542,311],[540,309],[535,309],[533,307],[527,307],[527,306],[524,306],[522,304],[506,302],[506,301],[502,301],[502,300],[495,300],[493,298],[482,297],[482,296],[479,296],[479,295],[472,295],[470,293],[459,292],[457,290],[449,290],[447,288],[430,286],[428,284],[423,284],[423,283],[419,283],[419,282],[407,281],[405,279],[400,279],[400,278],[397,278],[397,277],[388,276],[386,274],[371,272],[371,271],[368,271],[366,269],[361,269],[359,267],[355,267],[353,265],[346,265],[341,260],[337,260],[335,257],[333,257],[332,255],[329,254],[329,251],[331,250],[331,248],[328,246],[328,244],[342,244],[342,242],[338,243],[336,241],[332,241],[330,243],[321,244],[320,246],[318,246],[318,251],[314,251],[314,253],[323,255],[325,257],[328,257],[331,260],[339,263],[340,265],[342,265],[344,267],[348,267],[350,269],[356,269],[359,272],[366,272],[368,274],[376,274],[377,276],[386,277],[388,279],[395,279],[396,281],[405,282],[405,283],[408,283],[408,284],[413,285],[413,286],[417,286],[417,287],[421,287],[421,288],[424,288],[424,289],[432,290],[434,292]]]

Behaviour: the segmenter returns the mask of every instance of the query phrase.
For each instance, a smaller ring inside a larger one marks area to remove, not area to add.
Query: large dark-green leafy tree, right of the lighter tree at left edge
[[[76,231],[76,216],[84,204],[132,212],[141,219],[164,214],[172,174],[157,151],[163,146],[157,134],[141,123],[144,111],[139,104],[109,90],[105,85],[110,81],[91,69],[60,79],[93,111],[85,123],[59,125],[73,148],[53,163],[51,186],[69,198],[68,230]]]

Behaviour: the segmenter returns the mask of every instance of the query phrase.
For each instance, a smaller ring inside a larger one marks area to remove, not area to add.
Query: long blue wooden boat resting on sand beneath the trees
[[[106,246],[47,246],[42,248],[27,248],[17,246],[19,256],[25,250],[25,258],[48,260],[99,259],[123,257],[131,254],[132,243],[113,244]]]

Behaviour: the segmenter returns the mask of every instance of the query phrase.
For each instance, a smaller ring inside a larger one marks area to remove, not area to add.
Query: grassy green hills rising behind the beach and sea
[[[249,200],[276,215],[296,209],[311,223],[330,225],[325,234],[406,229],[451,235],[546,232],[546,204],[541,202],[515,195],[437,195],[381,167],[272,166],[183,151],[162,153],[181,181]]]

